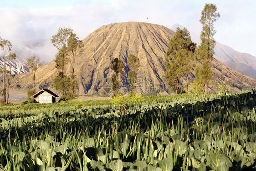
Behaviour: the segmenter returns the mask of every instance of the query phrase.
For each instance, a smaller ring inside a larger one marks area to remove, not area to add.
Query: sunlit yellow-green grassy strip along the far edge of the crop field
[[[0,116],[15,116],[15,115],[38,115],[40,113],[55,113],[58,112],[65,112],[76,110],[83,107],[93,107],[93,106],[102,106],[108,107],[113,105],[138,105],[138,104],[152,104],[152,103],[164,103],[164,102],[175,102],[175,101],[204,101],[205,98],[218,98],[218,95],[200,95],[194,96],[192,94],[182,94],[182,95],[165,95],[165,96],[144,96],[138,101],[137,97],[134,96],[133,98],[127,98],[126,96],[120,96],[116,99],[107,99],[107,100],[70,100],[70,101],[62,101],[59,103],[52,103],[52,104],[12,104],[7,106],[0,107]],[[123,100],[121,100],[123,99]],[[115,101],[118,101],[116,103]],[[123,104],[120,103],[123,102]],[[119,104],[120,103],[120,104]]]

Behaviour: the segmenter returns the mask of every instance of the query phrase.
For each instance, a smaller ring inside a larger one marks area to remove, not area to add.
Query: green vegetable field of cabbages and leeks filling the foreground
[[[256,89],[0,108],[0,170],[255,171]]]

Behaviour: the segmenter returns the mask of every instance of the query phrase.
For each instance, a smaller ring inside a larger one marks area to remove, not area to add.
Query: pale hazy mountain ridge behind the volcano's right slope
[[[184,28],[184,26],[175,24],[171,26],[171,30],[176,31],[176,28]],[[189,31],[191,35],[191,39],[200,45],[200,35]],[[220,62],[225,65],[237,70],[247,76],[250,76],[253,79],[256,79],[256,57],[247,53],[238,52],[227,45],[222,45],[216,42],[214,58],[216,60],[220,60]]]

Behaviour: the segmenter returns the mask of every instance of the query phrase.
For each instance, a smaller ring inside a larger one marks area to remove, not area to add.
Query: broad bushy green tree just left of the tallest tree
[[[176,94],[180,93],[180,83],[182,78],[192,70],[191,62],[194,58],[196,44],[191,41],[191,37],[186,28],[177,28],[176,33],[169,40],[165,58],[165,78],[171,89]]]

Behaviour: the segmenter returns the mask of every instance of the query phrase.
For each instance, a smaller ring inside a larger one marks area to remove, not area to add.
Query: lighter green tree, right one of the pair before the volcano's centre
[[[130,54],[127,58],[127,65],[130,68],[128,72],[128,82],[132,92],[136,90],[135,83],[138,76],[138,67],[140,66],[138,56]]]

